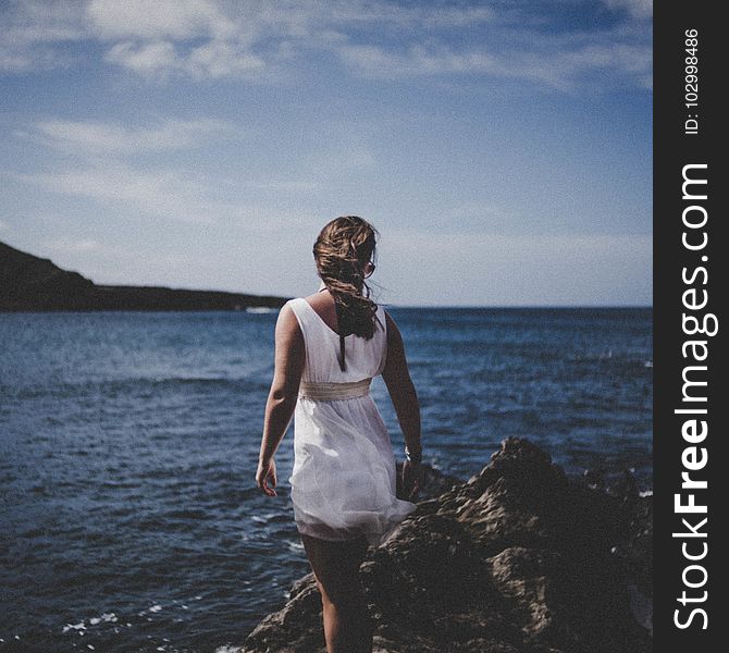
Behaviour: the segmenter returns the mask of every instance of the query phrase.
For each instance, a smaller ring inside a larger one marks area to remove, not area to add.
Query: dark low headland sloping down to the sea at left
[[[0,243],[0,311],[245,310],[288,297],[163,286],[98,285],[49,259]]]

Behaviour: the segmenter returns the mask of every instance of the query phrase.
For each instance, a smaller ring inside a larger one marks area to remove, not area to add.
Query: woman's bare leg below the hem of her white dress
[[[301,533],[321,592],[328,653],[371,653],[372,631],[359,582],[367,540],[333,542]]]

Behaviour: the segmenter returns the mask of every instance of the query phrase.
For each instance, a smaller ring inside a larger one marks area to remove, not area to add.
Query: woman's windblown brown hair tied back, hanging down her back
[[[378,305],[370,299],[363,268],[374,255],[378,231],[356,215],[335,218],[313,245],[317,271],[334,298],[339,329],[339,367],[345,368],[344,338],[374,335]]]

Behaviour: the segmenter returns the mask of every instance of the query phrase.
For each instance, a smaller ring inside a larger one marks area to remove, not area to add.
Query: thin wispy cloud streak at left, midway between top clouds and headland
[[[228,135],[234,126],[217,120],[166,120],[152,127],[129,128],[98,121],[46,120],[35,125],[37,134],[64,151],[136,155],[209,145],[214,136]]]

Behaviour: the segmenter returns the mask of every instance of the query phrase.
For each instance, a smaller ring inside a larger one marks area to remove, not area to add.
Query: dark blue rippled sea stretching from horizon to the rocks
[[[388,310],[425,463],[466,480],[515,435],[651,492],[651,308]],[[279,496],[255,482],[276,315],[0,313],[0,653],[224,653],[284,604],[293,424]]]

